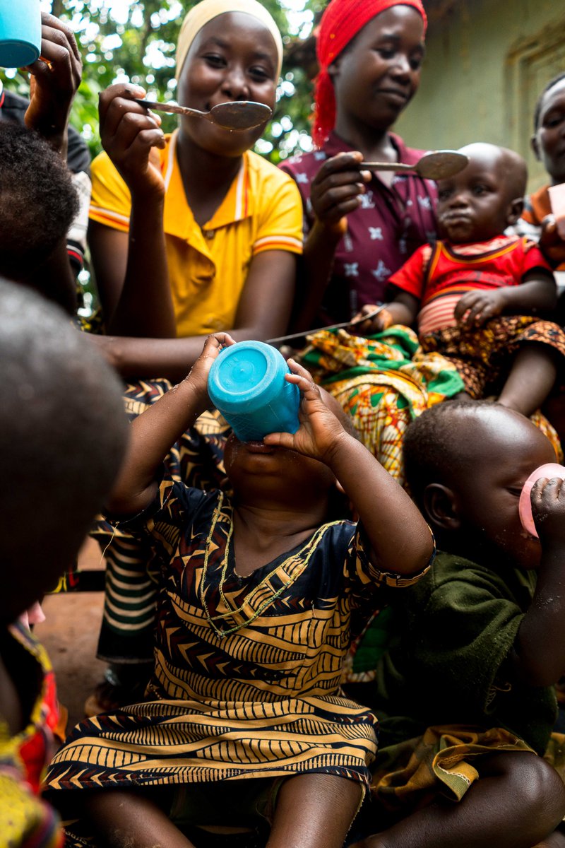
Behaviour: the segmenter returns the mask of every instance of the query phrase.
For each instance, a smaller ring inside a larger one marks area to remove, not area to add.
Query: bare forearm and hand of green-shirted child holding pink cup
[[[531,493],[541,561],[534,599],[510,659],[530,686],[551,686],[565,672],[565,482],[538,480]]]

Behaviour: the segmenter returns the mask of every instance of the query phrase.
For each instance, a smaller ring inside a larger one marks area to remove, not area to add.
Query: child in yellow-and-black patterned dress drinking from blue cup
[[[343,658],[384,587],[395,594],[426,571],[433,541],[293,360],[285,380],[302,395],[300,426],[262,442],[230,437],[233,499],[163,475],[232,344],[209,336],[188,377],[131,425],[110,508],[160,558],[154,672],[146,701],[75,728],[50,796],[112,845],[190,848],[181,829],[244,827],[258,810],[272,823],[269,848],[341,848],[376,750],[372,713],[341,692]],[[357,525],[328,523],[338,482]]]

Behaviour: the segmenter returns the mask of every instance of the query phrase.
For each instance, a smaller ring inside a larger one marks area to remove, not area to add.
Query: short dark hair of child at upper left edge
[[[78,204],[69,169],[45,139],[0,122],[0,274],[23,280],[42,265]]]

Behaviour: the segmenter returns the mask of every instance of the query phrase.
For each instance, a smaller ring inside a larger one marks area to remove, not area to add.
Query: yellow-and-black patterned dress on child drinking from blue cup
[[[375,569],[351,522],[325,524],[240,577],[230,500],[170,479],[128,529],[151,535],[163,565],[147,700],[77,725],[53,759],[48,787],[308,772],[368,785],[377,722],[342,695],[342,662],[381,587],[417,578]]]

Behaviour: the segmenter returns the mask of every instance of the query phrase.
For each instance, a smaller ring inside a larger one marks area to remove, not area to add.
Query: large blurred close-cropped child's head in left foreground
[[[86,335],[2,278],[0,361],[0,573],[23,595],[32,568],[72,564],[119,471],[127,421],[119,380]]]

